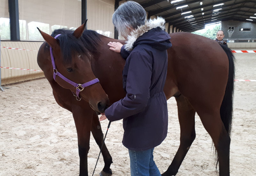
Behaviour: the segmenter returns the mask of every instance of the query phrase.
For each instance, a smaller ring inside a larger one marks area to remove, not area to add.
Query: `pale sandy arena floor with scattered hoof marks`
[[[236,79],[256,79],[256,53],[235,53]],[[79,174],[76,128],[71,113],[55,102],[46,79],[9,86],[0,92],[0,176],[73,176]],[[174,98],[168,100],[169,130],[155,148],[160,172],[166,171],[179,146],[179,122]],[[230,174],[256,175],[256,82],[235,82]],[[107,121],[101,123],[103,133]],[[106,145],[113,157],[113,176],[128,176],[129,156],[122,145],[122,122],[113,122]],[[177,176],[217,176],[212,140],[196,116],[196,140]],[[99,148],[91,138],[88,170],[92,175]],[[96,174],[103,168],[100,156]]]

